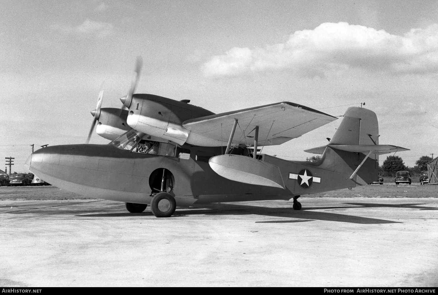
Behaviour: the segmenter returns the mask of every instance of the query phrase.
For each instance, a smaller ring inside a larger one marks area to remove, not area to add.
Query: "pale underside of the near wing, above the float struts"
[[[279,102],[250,109],[189,119],[182,126],[201,137],[227,142],[237,120],[233,144],[252,144],[259,126],[258,145],[277,145],[336,120],[336,117],[298,105]],[[250,138],[247,138],[250,137]]]

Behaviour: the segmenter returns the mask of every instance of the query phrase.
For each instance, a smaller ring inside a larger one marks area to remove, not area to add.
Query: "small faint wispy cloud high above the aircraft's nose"
[[[70,27],[61,24],[54,24],[50,27],[53,31],[60,32],[65,35],[81,35],[81,36],[96,36],[104,38],[111,35],[114,31],[113,25],[106,22],[90,21],[86,19],[81,25]]]

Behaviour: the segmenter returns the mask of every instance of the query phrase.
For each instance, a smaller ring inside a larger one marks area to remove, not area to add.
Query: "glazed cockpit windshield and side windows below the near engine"
[[[143,139],[143,137],[145,137],[145,139]],[[176,144],[148,140],[146,137],[150,138],[148,134],[130,130],[109,144],[114,145],[116,148],[134,153],[175,157],[177,150]]]

